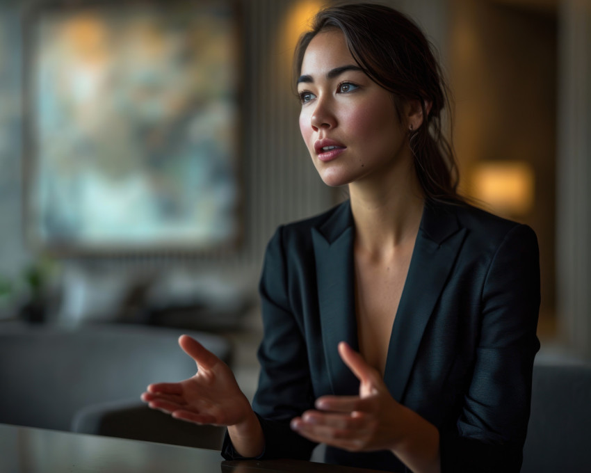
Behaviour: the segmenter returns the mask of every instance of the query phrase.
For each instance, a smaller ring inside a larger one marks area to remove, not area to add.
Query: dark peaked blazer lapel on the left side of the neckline
[[[334,394],[359,392],[359,380],[343,363],[337,346],[345,341],[358,350],[355,318],[355,230],[350,205],[344,202],[323,225],[311,229],[318,278],[318,308],[327,371]]]

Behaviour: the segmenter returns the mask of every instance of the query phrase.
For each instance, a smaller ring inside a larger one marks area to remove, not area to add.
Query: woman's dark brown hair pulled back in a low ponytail
[[[453,147],[442,132],[442,113],[448,111],[449,93],[432,46],[411,19],[392,8],[374,3],[329,6],[314,17],[311,30],[295,48],[294,72],[300,75],[305,51],[321,31],[339,29],[357,65],[394,99],[402,120],[403,104],[418,99],[423,125],[410,135],[414,168],[426,198],[461,202],[458,166]],[[431,109],[427,113],[427,104]]]

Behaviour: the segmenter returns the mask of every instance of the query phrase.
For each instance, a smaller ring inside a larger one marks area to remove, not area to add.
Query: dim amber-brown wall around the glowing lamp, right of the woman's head
[[[535,202],[514,216],[540,246],[544,337],[556,331],[555,211],[557,8],[539,2],[452,2],[455,147],[471,193],[481,161],[522,161],[535,177]]]

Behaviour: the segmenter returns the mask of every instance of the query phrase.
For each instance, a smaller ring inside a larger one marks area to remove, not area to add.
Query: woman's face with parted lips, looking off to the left
[[[383,178],[410,159],[390,93],[360,70],[341,31],[311,40],[300,73],[300,130],[325,184]]]

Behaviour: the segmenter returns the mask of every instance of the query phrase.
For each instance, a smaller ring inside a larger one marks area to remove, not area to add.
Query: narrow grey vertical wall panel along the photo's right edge
[[[563,342],[591,359],[591,4],[559,8],[556,266]]]

